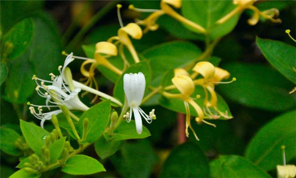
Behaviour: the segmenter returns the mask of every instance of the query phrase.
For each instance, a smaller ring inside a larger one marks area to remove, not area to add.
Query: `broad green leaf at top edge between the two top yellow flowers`
[[[239,14],[234,15],[231,19],[223,24],[217,24],[216,21],[229,14],[235,5],[232,1],[184,1],[182,2],[182,14],[188,20],[201,25],[209,34],[210,39],[223,37],[230,33],[237,24]],[[200,33],[196,29],[185,25],[193,32]]]

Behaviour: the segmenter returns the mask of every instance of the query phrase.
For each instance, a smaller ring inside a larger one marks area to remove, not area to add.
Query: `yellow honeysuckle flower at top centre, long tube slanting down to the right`
[[[138,9],[138,8],[135,8],[133,5],[129,6],[129,9],[138,11],[138,12],[153,12],[150,16],[148,16],[144,20],[136,20],[137,24],[146,26],[143,31],[144,33],[148,31],[156,31],[156,29],[158,29],[158,24],[156,24],[156,20],[164,14],[167,14],[184,24],[191,26],[192,28],[196,29],[196,31],[200,33],[206,33],[206,30],[204,27],[184,18],[183,16],[178,14],[176,11],[174,11],[174,9],[172,9],[169,5],[179,9],[181,8],[182,1],[181,0],[162,0],[160,2],[160,8],[161,8],[160,10]]]

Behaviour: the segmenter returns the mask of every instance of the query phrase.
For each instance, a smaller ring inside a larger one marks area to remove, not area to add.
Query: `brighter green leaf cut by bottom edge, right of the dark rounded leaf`
[[[243,157],[230,155],[220,156],[210,164],[213,178],[253,178],[270,177],[266,172],[256,167]]]

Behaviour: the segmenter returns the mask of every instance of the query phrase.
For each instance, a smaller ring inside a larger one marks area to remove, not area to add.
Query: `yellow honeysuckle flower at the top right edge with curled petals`
[[[233,0],[233,4],[237,5],[237,7],[233,9],[229,14],[219,19],[217,23],[222,24],[227,20],[229,20],[234,15],[242,13],[245,9],[249,9],[253,11],[253,16],[248,20],[248,23],[250,25],[257,24],[260,16],[275,23],[281,22],[281,19],[274,19],[275,16],[279,15],[279,10],[272,8],[272,9],[268,9],[260,12],[260,10],[253,5],[256,1],[257,0]]]

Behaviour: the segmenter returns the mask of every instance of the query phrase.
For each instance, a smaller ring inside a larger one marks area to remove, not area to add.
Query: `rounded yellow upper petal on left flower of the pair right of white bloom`
[[[187,75],[180,75],[171,79],[184,98],[189,97],[194,92],[194,83]]]

